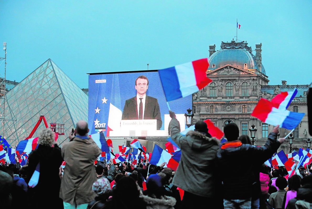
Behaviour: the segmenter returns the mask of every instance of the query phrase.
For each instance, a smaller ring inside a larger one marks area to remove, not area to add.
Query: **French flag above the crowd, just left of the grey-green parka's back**
[[[172,155],[167,151],[163,150],[157,144],[154,145],[153,155],[149,161],[152,165],[160,165],[166,162],[164,167],[171,168],[172,170],[177,170],[179,163],[172,158]]]

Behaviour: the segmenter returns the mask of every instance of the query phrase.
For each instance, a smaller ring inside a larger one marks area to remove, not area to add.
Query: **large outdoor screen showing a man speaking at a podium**
[[[89,134],[103,131],[105,136],[116,137],[168,136],[169,107],[183,131],[184,114],[192,109],[192,95],[167,104],[157,71],[89,75]]]

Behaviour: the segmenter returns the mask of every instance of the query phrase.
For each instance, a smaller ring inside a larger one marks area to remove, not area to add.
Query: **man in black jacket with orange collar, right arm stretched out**
[[[220,168],[229,168],[230,173],[221,173],[224,188],[224,208],[251,208],[251,194],[255,178],[252,165],[264,163],[278,149],[285,138],[276,140],[279,126],[275,126],[264,146],[257,147],[238,141],[239,129],[235,123],[224,127],[227,142],[223,143],[217,157]]]

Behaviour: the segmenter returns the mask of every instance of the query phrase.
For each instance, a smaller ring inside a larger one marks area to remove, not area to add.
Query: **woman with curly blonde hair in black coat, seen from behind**
[[[29,208],[63,208],[63,201],[59,197],[59,168],[63,158],[61,148],[55,142],[55,133],[50,128],[41,130],[37,143],[37,149],[28,156],[27,183],[38,164],[40,169],[38,184],[27,191]]]

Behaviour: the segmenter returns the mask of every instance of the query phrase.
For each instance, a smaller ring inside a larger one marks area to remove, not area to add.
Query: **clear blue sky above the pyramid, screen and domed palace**
[[[308,0],[2,0],[6,78],[20,82],[48,58],[80,88],[88,88],[87,73],[172,67],[236,39],[238,19],[238,40],[253,50],[262,43],[270,85],[310,84],[311,6]]]

